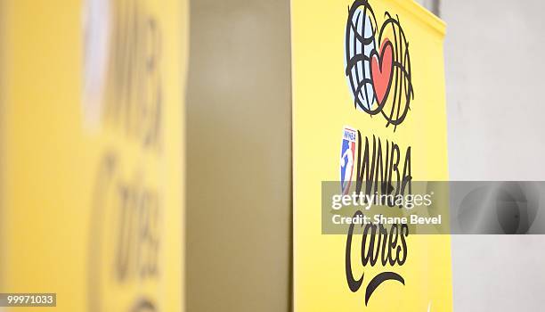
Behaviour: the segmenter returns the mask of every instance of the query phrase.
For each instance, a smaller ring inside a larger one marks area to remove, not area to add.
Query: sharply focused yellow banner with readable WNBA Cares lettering
[[[373,194],[448,179],[443,21],[414,1],[291,9],[295,311],[451,310],[449,235],[321,228],[325,181]]]

